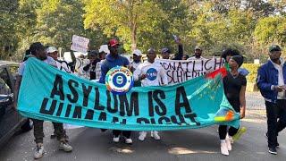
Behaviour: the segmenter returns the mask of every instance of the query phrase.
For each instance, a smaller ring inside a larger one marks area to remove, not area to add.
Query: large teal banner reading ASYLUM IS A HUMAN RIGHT
[[[223,94],[221,68],[172,86],[135,87],[114,95],[105,84],[80,79],[29,58],[21,80],[18,110],[26,117],[88,127],[170,131],[214,124],[239,126]]]

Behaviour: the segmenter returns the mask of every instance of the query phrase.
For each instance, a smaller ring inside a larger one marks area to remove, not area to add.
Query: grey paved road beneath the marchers
[[[147,138],[144,142],[137,140],[138,132],[133,132],[134,143],[127,146],[124,143],[114,144],[110,131],[101,132],[98,129],[80,128],[69,130],[71,145],[74,150],[64,153],[57,150],[56,140],[49,139],[52,124],[45,123],[46,155],[40,160],[286,160],[286,133],[279,136],[280,148],[278,155],[267,152],[264,137],[266,129],[264,102],[259,94],[248,94],[248,113],[242,121],[242,126],[248,131],[235,142],[229,157],[220,154],[220,141],[217,126],[198,130],[163,131],[162,140]],[[4,148],[0,149],[0,161],[33,160],[32,131],[16,135]]]

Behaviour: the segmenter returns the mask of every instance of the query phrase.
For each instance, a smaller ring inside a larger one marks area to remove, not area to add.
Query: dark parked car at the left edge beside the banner
[[[13,108],[13,89],[19,64],[0,61],[0,147],[16,131],[29,131],[32,122]]]

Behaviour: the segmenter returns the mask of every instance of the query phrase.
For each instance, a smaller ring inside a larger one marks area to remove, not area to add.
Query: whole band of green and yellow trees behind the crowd
[[[264,62],[270,44],[286,47],[284,0],[0,0],[0,58],[21,59],[30,43],[69,50],[71,36],[90,39],[90,49],[119,38],[123,49],[171,47],[221,55],[238,48],[248,62]]]

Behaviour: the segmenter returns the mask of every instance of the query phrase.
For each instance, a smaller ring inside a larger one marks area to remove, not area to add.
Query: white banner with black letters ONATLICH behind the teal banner
[[[156,59],[156,62],[161,64],[167,73],[169,84],[181,83],[205,75],[208,72],[213,72],[221,68],[224,64],[223,58],[221,57],[186,61]]]

